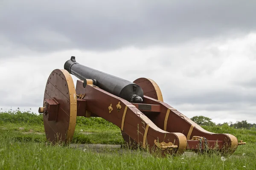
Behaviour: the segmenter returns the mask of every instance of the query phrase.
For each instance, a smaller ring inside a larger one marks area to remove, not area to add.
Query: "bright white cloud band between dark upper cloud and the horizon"
[[[63,68],[73,55],[83,65],[130,81],[139,77],[153,79],[164,101],[188,117],[204,115],[218,122],[250,118],[250,122],[256,122],[256,89],[241,84],[253,80],[256,73],[256,59],[250,56],[255,40],[256,34],[249,34],[221,42],[203,40],[108,52],[59,51],[41,57],[1,59],[0,72],[8,74],[1,76],[0,89],[6,91],[0,94],[6,97],[0,99],[0,108],[33,107],[37,112],[50,72]]]

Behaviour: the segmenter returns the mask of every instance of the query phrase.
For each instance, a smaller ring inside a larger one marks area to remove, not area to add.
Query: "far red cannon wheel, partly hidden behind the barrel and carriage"
[[[161,102],[163,102],[162,92],[161,92],[159,86],[157,85],[157,83],[154,82],[154,80],[147,79],[147,78],[139,78],[139,79],[134,80],[134,83],[139,85],[143,89],[143,93],[145,96],[148,96],[148,97],[151,97],[153,99],[157,99],[157,100],[160,100]],[[129,148],[131,148],[131,149],[138,148],[137,142],[135,142],[133,139],[131,139],[131,137],[128,134],[126,134],[122,130],[121,130],[121,134],[122,134],[123,139],[125,140],[125,143],[128,145]]]

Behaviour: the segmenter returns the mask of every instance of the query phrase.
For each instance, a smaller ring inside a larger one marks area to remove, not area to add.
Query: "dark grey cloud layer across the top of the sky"
[[[166,45],[256,29],[252,0],[3,0],[2,4],[1,37],[13,47],[39,52]]]

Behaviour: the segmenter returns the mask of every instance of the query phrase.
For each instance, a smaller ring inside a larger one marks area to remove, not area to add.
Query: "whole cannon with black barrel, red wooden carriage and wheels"
[[[79,80],[76,88],[70,74]],[[128,147],[159,151],[162,156],[217,150],[233,153],[246,144],[227,133],[212,133],[163,101],[152,79],[130,82],[76,62],[75,57],[49,75],[44,91],[46,138],[53,144],[72,141],[76,117],[102,117],[118,126]]]

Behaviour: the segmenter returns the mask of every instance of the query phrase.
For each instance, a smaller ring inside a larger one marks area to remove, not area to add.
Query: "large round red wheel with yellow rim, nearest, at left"
[[[46,99],[58,102],[56,110],[43,113],[47,140],[53,144],[71,142],[76,127],[77,101],[73,79],[66,70],[55,69],[49,75],[44,91],[44,107]],[[49,114],[54,115],[55,120],[48,120]]]

